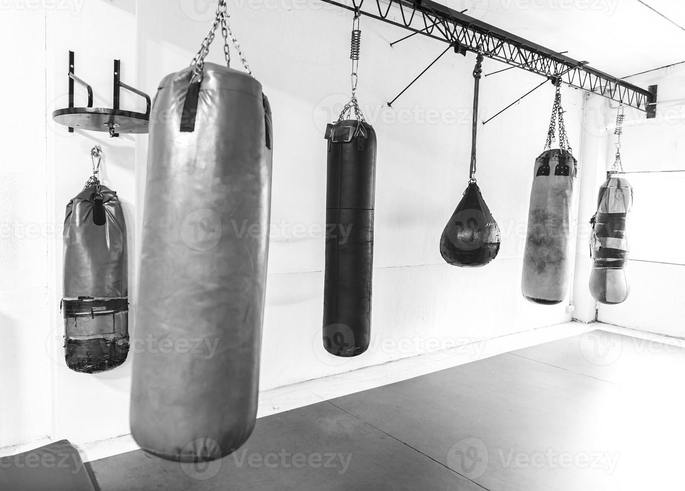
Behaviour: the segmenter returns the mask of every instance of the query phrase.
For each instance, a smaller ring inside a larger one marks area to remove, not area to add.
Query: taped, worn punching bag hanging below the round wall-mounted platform
[[[128,278],[126,224],[119,196],[90,185],[66,205],[64,217],[64,357],[84,373],[126,360]]]

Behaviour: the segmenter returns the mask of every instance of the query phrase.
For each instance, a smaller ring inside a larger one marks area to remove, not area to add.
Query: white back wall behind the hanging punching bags
[[[7,154],[10,165],[2,164],[5,215],[0,223],[57,229],[36,239],[16,233],[1,238],[0,377],[3,388],[11,390],[0,393],[0,447],[40,436],[81,443],[128,432],[131,357],[99,375],[75,373],[64,365],[60,237],[64,206],[88,178],[88,150],[99,143],[105,154],[103,181],[121,196],[129,228],[134,313],[147,137],[70,135],[49,116],[66,106],[69,49],[76,52],[77,75],[92,84],[97,104],[111,103],[114,57],[122,60],[123,81],[153,96],[164,75],[187,66],[206,34],[210,20],[192,10],[198,4],[97,0],[79,12],[3,12],[0,18],[0,32],[8,37],[3,46],[16,44],[19,36],[25,39],[25,27],[36,33],[28,48],[34,56],[26,61],[22,79],[26,89],[39,94],[28,101],[30,111],[21,112],[21,120],[4,123],[3,135],[14,144]],[[273,107],[272,222],[323,226],[323,128],[349,97],[351,16],[327,7],[240,4],[240,10],[229,6],[231,23]],[[564,305],[526,302],[519,287],[532,166],[545,142],[552,86],[479,129],[478,183],[503,243],[487,267],[450,267],[440,258],[438,240],[468,178],[474,57],[445,55],[389,109],[386,101],[445,45],[414,36],[390,48],[388,43],[405,33],[369,18],[362,18],[362,32],[358,96],[379,142],[372,348],[352,359],[323,351],[324,239],[282,233],[271,242],[269,257],[262,390],[570,319]],[[215,62],[223,56],[220,40],[210,53]],[[237,67],[235,53],[234,59]],[[484,62],[486,73],[501,68]],[[481,85],[482,118],[539,81],[520,70],[487,77]],[[564,89],[564,102],[571,142],[578,148],[582,92]],[[22,107],[19,98],[12,103]],[[137,103],[132,96],[123,101],[124,107]],[[437,121],[427,122],[428,110],[428,118],[437,115]],[[18,192],[28,178],[38,189],[31,200],[27,192]]]

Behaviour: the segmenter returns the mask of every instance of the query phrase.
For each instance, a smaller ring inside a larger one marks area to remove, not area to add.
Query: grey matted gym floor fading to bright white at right
[[[88,464],[110,490],[679,489],[685,349],[603,331],[257,421],[236,453]]]

